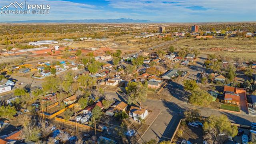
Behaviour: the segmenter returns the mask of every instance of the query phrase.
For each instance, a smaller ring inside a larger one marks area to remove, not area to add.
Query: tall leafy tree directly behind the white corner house
[[[141,106],[141,102],[146,100],[148,88],[143,86],[141,82],[129,82],[127,87],[125,88],[128,97],[129,103],[131,102],[139,102]]]

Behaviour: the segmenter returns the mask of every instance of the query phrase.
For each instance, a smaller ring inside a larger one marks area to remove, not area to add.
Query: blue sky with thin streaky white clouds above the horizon
[[[25,0],[16,1],[25,4]],[[11,2],[15,0],[0,0],[0,8]],[[152,22],[256,21],[256,0],[26,0],[26,4],[50,4],[49,14],[1,12],[0,22],[113,18]],[[16,9],[10,6],[8,10]]]

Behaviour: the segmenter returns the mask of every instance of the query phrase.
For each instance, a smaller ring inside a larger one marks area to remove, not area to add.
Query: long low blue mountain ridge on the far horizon
[[[150,20],[133,20],[130,18],[119,19],[90,19],[90,20],[24,20],[6,21],[6,23],[151,23]]]

